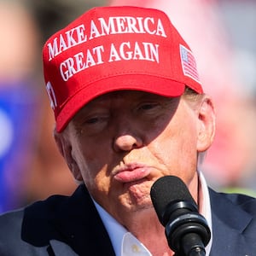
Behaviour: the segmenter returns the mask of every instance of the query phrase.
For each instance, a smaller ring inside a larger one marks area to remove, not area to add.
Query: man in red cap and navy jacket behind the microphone
[[[55,142],[73,177],[0,218],[0,254],[173,255],[150,198],[177,176],[212,231],[207,255],[256,252],[256,202],[207,188],[198,171],[215,114],[188,44],[159,10],[91,9],[44,45]]]

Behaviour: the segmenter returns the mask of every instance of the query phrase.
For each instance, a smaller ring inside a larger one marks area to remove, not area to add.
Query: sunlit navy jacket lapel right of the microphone
[[[212,250],[211,256],[248,255],[256,252],[253,237],[247,235],[248,224],[255,225],[253,217],[243,211],[236,202],[228,200],[210,189],[212,206]],[[230,246],[232,245],[232,246]],[[252,247],[248,247],[248,245]]]

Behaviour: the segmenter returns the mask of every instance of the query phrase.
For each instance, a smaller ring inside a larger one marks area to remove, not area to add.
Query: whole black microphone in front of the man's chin
[[[176,256],[205,256],[211,238],[207,220],[179,177],[160,177],[150,191],[154,210]]]

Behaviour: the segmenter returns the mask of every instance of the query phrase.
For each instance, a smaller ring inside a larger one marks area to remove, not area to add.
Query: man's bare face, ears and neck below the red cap
[[[209,96],[167,98],[125,90],[82,108],[55,142],[90,195],[153,255],[172,255],[149,191],[175,175],[198,201],[197,156],[212,144],[215,114]],[[158,241],[158,247],[155,247]]]

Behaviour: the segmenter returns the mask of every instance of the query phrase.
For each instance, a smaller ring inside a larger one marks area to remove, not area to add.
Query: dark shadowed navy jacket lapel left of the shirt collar
[[[84,185],[63,203],[53,224],[63,237],[63,242],[51,241],[56,255],[115,255],[108,232]],[[64,249],[66,254],[61,253]]]

